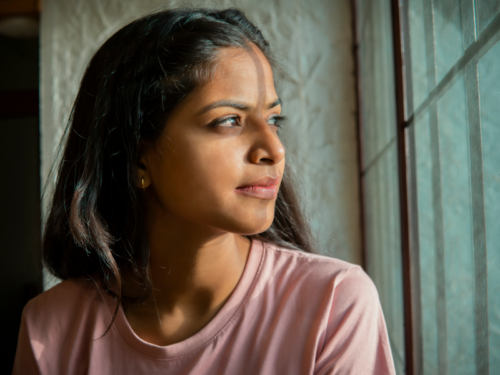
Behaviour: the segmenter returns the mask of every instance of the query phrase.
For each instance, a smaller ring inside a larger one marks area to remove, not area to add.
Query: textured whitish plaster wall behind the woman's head
[[[350,0],[44,0],[42,12],[42,180],[83,70],[116,30],[165,6],[244,10],[274,47],[289,77],[279,90],[287,158],[324,254],[359,263],[360,215]],[[49,181],[50,190],[50,181]]]

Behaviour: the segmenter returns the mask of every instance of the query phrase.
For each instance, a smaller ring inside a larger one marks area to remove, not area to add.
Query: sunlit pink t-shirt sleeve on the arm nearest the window
[[[395,373],[377,289],[360,267],[353,267],[334,289],[314,374]]]

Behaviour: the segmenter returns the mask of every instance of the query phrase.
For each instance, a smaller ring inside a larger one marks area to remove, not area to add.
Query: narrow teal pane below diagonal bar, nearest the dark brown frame
[[[438,373],[436,239],[429,113],[414,125],[420,256],[423,373]]]

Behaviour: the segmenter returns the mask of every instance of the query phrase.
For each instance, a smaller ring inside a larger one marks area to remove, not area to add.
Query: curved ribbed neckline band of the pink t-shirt
[[[177,359],[210,345],[212,340],[223,334],[224,329],[232,323],[248,298],[261,268],[263,250],[264,243],[252,239],[245,268],[233,293],[231,293],[217,315],[193,336],[167,346],[159,346],[144,341],[130,327],[121,305],[118,308],[113,328],[133,349],[143,355],[157,359]]]

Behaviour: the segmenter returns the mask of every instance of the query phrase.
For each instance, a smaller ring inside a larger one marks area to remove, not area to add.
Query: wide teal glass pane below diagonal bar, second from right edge
[[[475,371],[474,253],[464,79],[438,102],[449,374]]]

